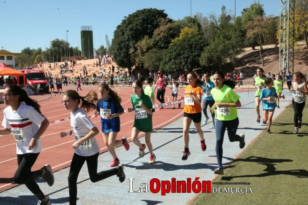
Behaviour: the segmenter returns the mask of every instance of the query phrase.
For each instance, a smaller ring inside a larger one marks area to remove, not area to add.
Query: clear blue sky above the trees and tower
[[[221,6],[234,13],[234,0],[191,0],[192,15],[221,13]],[[279,14],[279,0],[260,0],[266,15]],[[236,14],[249,7],[253,0],[236,0]],[[105,35],[110,41],[113,32],[128,14],[144,8],[165,10],[169,18],[190,16],[190,0],[1,0],[0,47],[20,52],[25,47],[49,46],[55,38],[66,40],[71,46],[80,46],[80,27],[92,26],[94,47],[105,46]]]

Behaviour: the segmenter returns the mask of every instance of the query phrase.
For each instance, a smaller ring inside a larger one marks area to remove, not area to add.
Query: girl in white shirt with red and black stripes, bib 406
[[[48,196],[43,194],[34,179],[43,177],[48,185],[52,186],[55,179],[50,165],[46,164],[40,170],[31,171],[42,150],[40,136],[49,126],[49,121],[42,115],[38,102],[29,98],[26,91],[19,86],[7,86],[2,97],[4,104],[8,107],[3,111],[2,126],[4,129],[0,130],[0,135],[12,133],[16,140],[18,168],[14,174],[14,182],[25,184],[39,199],[38,204],[49,205],[51,202]]]

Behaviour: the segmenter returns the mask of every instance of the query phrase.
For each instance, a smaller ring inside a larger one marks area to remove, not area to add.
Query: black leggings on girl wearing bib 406
[[[42,170],[31,171],[31,167],[38,158],[39,153],[26,153],[17,155],[18,168],[14,174],[14,182],[17,184],[25,184],[26,187],[37,197],[43,200],[45,195],[34,181],[42,176]]]

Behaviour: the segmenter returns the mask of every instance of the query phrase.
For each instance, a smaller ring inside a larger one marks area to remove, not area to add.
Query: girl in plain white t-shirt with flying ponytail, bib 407
[[[68,175],[70,205],[76,204],[77,178],[85,161],[87,161],[91,182],[98,182],[112,175],[117,175],[121,183],[125,179],[124,167],[122,164],[119,164],[118,167],[113,169],[97,173],[99,146],[95,139],[95,135],[99,134],[99,130],[86,114],[86,112],[96,109],[95,102],[97,100],[97,94],[93,90],[84,97],[79,96],[78,92],[75,90],[67,90],[63,93],[62,103],[67,110],[71,111],[71,127],[73,127],[73,130],[63,131],[60,135],[61,137],[65,137],[71,135],[73,131],[75,133],[75,143],[72,145],[75,152]],[[81,106],[79,108],[80,103]]]

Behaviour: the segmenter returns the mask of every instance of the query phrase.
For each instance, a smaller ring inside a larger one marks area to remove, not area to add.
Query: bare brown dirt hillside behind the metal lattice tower
[[[237,56],[233,63],[234,71],[241,70],[245,78],[253,77],[258,67],[263,68],[265,73],[277,74],[279,72],[279,48],[267,48],[262,53],[264,66],[261,64],[259,50],[247,50]],[[294,72],[301,71],[308,74],[308,49],[300,45],[294,52]],[[230,72],[230,71],[229,71]]]

